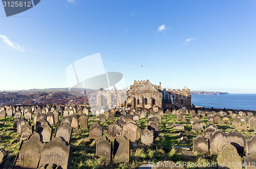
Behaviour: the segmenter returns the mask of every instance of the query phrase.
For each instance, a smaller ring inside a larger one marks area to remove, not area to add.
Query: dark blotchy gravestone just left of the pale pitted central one
[[[114,139],[119,137],[121,134],[122,134],[122,126],[119,125],[117,122],[110,124],[106,131],[106,136],[111,141],[114,141]]]

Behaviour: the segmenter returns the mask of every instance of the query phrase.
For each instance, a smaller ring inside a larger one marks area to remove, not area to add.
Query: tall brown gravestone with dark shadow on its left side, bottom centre
[[[114,159],[120,162],[130,162],[130,140],[120,135],[114,141]]]

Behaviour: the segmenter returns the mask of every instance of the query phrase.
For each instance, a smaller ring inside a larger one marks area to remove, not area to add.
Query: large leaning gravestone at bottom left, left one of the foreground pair
[[[38,133],[33,133],[28,140],[23,141],[13,168],[37,168],[41,150],[44,146],[41,141],[41,136]]]

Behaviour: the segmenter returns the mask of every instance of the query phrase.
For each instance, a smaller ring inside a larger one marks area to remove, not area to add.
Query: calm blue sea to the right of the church
[[[256,94],[191,95],[195,106],[256,111]]]

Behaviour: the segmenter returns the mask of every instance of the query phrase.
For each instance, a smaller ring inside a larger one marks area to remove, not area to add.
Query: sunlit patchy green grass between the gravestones
[[[91,114],[90,114],[91,115]],[[55,135],[56,126],[53,128],[53,137]],[[117,117],[114,117],[114,120]],[[177,117],[175,115],[165,115],[162,117],[162,124],[159,125],[159,136],[154,139],[154,146],[148,147],[143,146],[138,139],[138,146],[131,148],[131,162],[121,163],[115,161],[114,159],[104,159],[96,157],[96,140],[90,139],[89,129],[82,129],[82,134],[73,133],[71,138],[71,144],[73,145],[72,162],[71,168],[136,168],[141,164],[147,164],[148,162],[157,163],[158,161],[174,161],[176,163],[182,163],[186,161],[188,163],[218,163],[217,155],[210,155],[210,153],[201,154],[195,153],[194,158],[187,158],[181,153],[176,153],[173,146],[184,146],[189,147],[190,150],[193,149],[193,138],[198,135],[203,135],[203,130],[194,131],[191,128],[191,123],[188,119],[191,119],[190,114],[186,115],[186,122],[177,122]],[[138,127],[141,129],[146,128],[146,118],[140,119]],[[106,120],[106,123],[100,123],[103,126],[103,136],[106,135],[106,130],[109,124],[113,123],[114,120]],[[203,120],[203,126],[209,124],[207,122],[207,117],[201,118]],[[6,117],[6,119],[1,119],[5,122],[4,126],[0,127],[0,148],[3,148],[8,153],[8,158],[5,163],[5,168],[12,168],[16,154],[18,153],[20,144],[20,134],[16,133],[16,129],[13,128],[13,117]],[[98,116],[89,117],[89,126],[98,121]],[[232,118],[229,116],[229,124],[224,126],[218,126],[223,132],[237,131],[235,127],[231,125]],[[172,125],[182,124],[185,131],[176,131]],[[33,120],[31,120],[31,125],[33,125]],[[215,123],[217,126],[217,123]],[[182,132],[186,137],[187,141],[185,143],[179,142],[177,137],[178,133]],[[243,134],[251,137],[254,135],[254,130],[240,131]],[[218,166],[218,165],[217,165]],[[189,168],[189,167],[188,167]],[[192,168],[192,167],[191,167]],[[194,167],[193,167],[194,168]],[[210,168],[210,167],[207,167]]]

